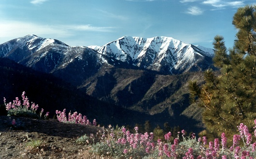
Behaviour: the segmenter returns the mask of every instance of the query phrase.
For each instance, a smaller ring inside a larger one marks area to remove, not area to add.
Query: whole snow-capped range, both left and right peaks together
[[[103,65],[181,74],[208,68],[212,65],[212,56],[213,49],[170,37],[126,36],[103,46],[72,47],[59,40],[27,35],[0,44],[0,57],[77,84]]]

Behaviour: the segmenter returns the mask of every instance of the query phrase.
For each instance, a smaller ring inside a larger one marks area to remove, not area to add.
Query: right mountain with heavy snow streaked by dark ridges
[[[198,70],[205,64],[209,66],[213,57],[213,49],[196,47],[170,37],[125,36],[101,47],[89,48],[140,68],[172,74]]]

